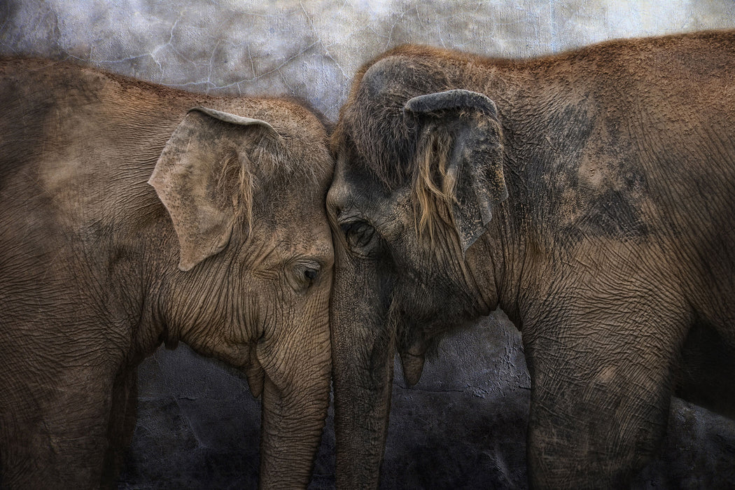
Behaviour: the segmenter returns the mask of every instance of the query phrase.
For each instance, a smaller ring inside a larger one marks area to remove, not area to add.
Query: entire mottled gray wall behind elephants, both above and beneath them
[[[0,0],[0,54],[71,58],[185,90],[304,98],[335,120],[363,62],[401,43],[533,57],[615,37],[735,27],[731,0]],[[524,488],[528,373],[498,312],[442,342],[406,389],[397,367],[384,488]],[[140,370],[121,488],[256,486],[259,402],[187,347]],[[331,415],[312,488],[334,482]],[[735,487],[735,427],[675,400],[636,488]]]

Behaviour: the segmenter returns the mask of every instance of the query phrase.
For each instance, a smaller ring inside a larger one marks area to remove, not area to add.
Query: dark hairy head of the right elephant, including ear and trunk
[[[495,104],[419,68],[432,69],[419,57],[371,65],[354,82],[332,140],[341,488],[377,486],[395,350],[406,383],[415,384],[438,336],[497,303],[469,266],[473,243],[508,195]]]

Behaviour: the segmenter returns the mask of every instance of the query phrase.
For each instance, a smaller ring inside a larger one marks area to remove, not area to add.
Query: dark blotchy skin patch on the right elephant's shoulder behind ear
[[[543,201],[550,206],[537,209],[539,220],[558,226],[572,242],[584,237],[645,237],[650,230],[637,197],[646,190],[645,176],[627,157],[631,142],[621,134],[617,118],[605,120],[601,131],[596,128],[599,109],[589,97],[551,114],[549,127],[558,139],[531,164],[538,178],[548,181]],[[588,162],[585,152],[595,147],[605,149],[609,157],[597,155]],[[589,164],[589,179],[594,173],[600,179],[595,184],[580,179]]]

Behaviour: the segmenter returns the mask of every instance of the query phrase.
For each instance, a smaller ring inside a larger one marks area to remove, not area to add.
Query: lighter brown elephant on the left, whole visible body
[[[71,62],[0,80],[0,486],[115,486],[137,365],[180,341],[261,398],[259,485],[305,487],[331,378],[323,117]]]

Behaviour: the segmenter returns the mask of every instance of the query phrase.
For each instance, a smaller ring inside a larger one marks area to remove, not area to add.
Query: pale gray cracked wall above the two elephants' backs
[[[730,27],[728,0],[80,1],[0,4],[0,53],[72,57],[210,93],[290,93],[336,118],[359,65],[401,43],[531,57]]]

